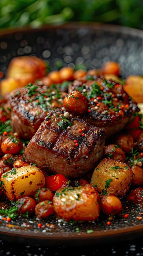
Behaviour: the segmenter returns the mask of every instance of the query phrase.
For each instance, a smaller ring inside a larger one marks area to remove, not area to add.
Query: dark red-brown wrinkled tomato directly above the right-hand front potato
[[[119,148],[119,146],[115,144],[105,146],[103,154],[106,155],[106,157],[110,156],[110,158],[119,160],[121,162],[125,161],[125,153],[121,148]]]

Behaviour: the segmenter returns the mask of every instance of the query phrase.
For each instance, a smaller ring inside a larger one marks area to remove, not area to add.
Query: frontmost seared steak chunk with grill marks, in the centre
[[[78,117],[68,119],[62,110],[48,113],[26,150],[26,160],[39,168],[68,177],[80,177],[102,156],[104,132]]]

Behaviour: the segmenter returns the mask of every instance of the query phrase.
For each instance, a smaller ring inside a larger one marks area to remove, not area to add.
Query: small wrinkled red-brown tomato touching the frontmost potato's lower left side
[[[48,200],[39,202],[35,207],[35,214],[38,218],[46,218],[54,213],[53,203]]]

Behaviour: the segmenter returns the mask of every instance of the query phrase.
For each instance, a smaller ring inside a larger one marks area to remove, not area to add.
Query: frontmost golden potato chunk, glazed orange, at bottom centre
[[[90,184],[57,190],[53,204],[64,220],[96,220],[100,213],[99,194]]]

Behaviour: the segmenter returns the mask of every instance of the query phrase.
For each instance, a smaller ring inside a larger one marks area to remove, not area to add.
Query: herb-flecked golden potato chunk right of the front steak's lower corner
[[[108,157],[97,165],[90,184],[96,185],[96,189],[101,193],[103,189],[106,189],[106,181],[111,179],[107,193],[123,198],[130,188],[132,175],[132,170],[127,164]]]

